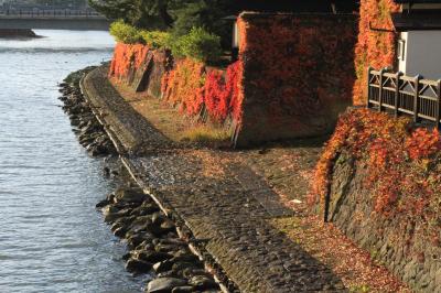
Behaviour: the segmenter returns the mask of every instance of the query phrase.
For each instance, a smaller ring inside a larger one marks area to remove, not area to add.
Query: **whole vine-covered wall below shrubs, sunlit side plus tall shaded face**
[[[176,94],[172,106],[202,122],[233,126],[239,146],[321,135],[352,104],[355,23],[354,15],[244,12],[239,61],[225,70],[118,44],[111,68],[127,68],[110,76],[159,98]]]

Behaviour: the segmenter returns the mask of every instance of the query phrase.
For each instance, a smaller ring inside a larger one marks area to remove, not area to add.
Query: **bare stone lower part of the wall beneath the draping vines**
[[[332,176],[331,220],[418,292],[441,292],[441,248],[424,234],[423,219],[375,215],[372,194],[363,188],[366,170],[345,153]]]

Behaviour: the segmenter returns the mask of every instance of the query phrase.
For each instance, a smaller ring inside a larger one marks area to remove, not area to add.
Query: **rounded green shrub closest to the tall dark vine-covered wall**
[[[214,63],[222,56],[220,37],[203,28],[193,28],[171,45],[173,55],[185,56],[198,62]]]

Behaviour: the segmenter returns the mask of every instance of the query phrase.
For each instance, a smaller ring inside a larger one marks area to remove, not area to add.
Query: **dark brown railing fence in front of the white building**
[[[387,69],[368,69],[367,107],[378,111],[411,115],[415,122],[430,121],[440,127],[441,79],[409,77]]]

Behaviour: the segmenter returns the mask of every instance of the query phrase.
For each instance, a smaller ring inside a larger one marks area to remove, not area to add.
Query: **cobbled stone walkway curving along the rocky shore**
[[[183,149],[169,142],[107,82],[90,73],[83,89],[138,184],[203,239],[243,292],[345,291],[324,264],[275,229],[289,216],[266,182],[228,152]]]

